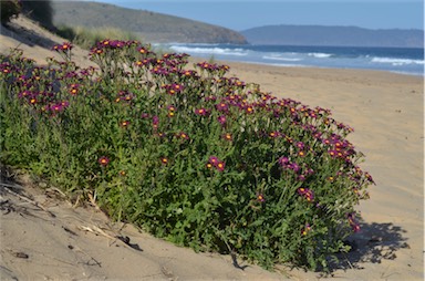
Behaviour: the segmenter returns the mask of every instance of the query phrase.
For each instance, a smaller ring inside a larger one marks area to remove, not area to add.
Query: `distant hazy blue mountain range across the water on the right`
[[[240,32],[251,44],[423,48],[423,30],[267,25]]]

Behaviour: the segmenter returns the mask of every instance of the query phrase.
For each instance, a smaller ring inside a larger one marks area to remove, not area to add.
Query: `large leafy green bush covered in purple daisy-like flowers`
[[[348,250],[373,180],[330,111],[135,41],[97,42],[99,69],[75,67],[71,49],[56,45],[65,62],[48,66],[1,58],[2,163],[157,237],[267,269],[328,270]]]

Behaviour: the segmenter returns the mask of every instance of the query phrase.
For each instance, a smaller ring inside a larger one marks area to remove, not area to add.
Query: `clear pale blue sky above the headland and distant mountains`
[[[268,24],[424,29],[423,0],[96,0],[237,31]]]

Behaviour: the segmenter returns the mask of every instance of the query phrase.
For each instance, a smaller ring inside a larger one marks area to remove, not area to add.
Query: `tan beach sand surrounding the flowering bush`
[[[19,44],[43,62],[63,40],[19,19],[2,28],[0,52]],[[25,34],[24,37],[22,34]],[[86,66],[86,52],[75,60]],[[193,59],[197,61],[197,59]],[[338,280],[423,280],[424,278],[424,81],[380,71],[230,65],[227,76],[258,83],[262,91],[310,107],[330,108],[354,127],[349,136],[365,154],[361,164],[376,181],[357,209],[357,249],[332,273]],[[4,171],[3,175],[7,173]],[[9,175],[11,176],[11,175]],[[195,253],[123,223],[94,206],[73,207],[55,189],[28,177],[2,178],[0,189],[1,280],[317,280],[320,273],[269,272],[230,256]],[[128,240],[128,239],[129,240]],[[124,240],[124,241],[123,241]]]

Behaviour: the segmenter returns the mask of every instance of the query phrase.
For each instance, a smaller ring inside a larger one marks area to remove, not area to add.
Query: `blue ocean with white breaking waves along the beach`
[[[369,46],[294,46],[234,44],[160,44],[160,48],[207,60],[277,66],[366,69],[424,76],[424,49]]]

